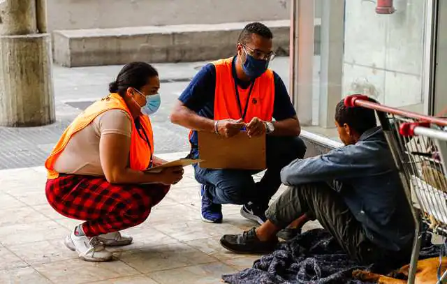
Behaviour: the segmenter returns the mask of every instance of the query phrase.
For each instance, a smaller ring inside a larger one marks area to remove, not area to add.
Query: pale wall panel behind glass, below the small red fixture
[[[344,95],[423,111],[425,3],[395,0],[394,14],[379,15],[372,1],[345,1]]]

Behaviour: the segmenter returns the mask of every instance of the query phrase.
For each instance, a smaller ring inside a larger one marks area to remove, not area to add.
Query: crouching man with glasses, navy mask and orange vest
[[[247,170],[210,170],[195,166],[202,185],[202,220],[221,223],[221,204],[241,204],[245,218],[263,223],[268,202],[281,185],[280,171],[306,147],[300,123],[281,78],[268,69],[272,32],[259,22],[247,24],[237,55],[209,63],[179,97],[171,121],[189,128],[192,158],[198,157],[197,130],[231,137],[247,128],[250,136],[267,134],[267,167],[255,183]]]

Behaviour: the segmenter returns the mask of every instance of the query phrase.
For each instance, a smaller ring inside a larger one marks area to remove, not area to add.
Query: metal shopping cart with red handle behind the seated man
[[[421,225],[447,237],[447,119],[386,107],[362,95],[348,96],[344,103],[375,110],[386,135],[416,224],[408,280],[413,284],[423,237]],[[447,278],[447,271],[439,277],[441,281]]]

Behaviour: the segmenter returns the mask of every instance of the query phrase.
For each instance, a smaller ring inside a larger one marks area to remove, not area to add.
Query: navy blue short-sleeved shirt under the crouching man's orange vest
[[[233,78],[241,89],[247,89],[251,82],[239,80],[236,76],[235,59],[233,58]],[[274,105],[273,118],[277,121],[290,119],[296,115],[295,108],[284,82],[281,77],[273,72],[274,77]],[[202,69],[193,77],[188,87],[184,89],[179,96],[179,100],[190,110],[193,110],[201,117],[214,119],[214,91],[216,89],[216,67],[212,63],[203,66]],[[193,132],[190,137],[191,146],[193,147],[194,158],[197,157],[197,133]]]

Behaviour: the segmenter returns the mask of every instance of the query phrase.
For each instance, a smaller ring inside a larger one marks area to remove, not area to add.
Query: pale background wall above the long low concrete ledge
[[[47,0],[47,8],[50,31],[290,18],[288,0]]]

